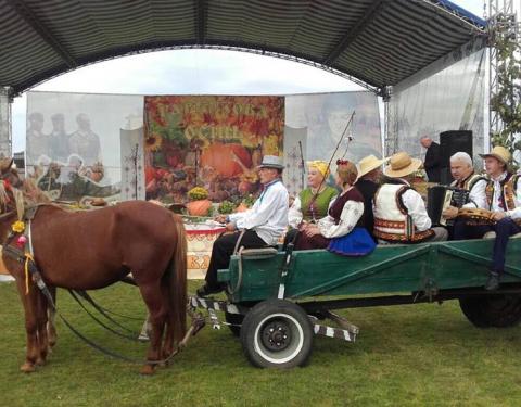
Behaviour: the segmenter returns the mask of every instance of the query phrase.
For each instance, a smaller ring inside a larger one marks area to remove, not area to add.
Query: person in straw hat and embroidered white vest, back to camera
[[[381,244],[447,240],[444,228],[431,228],[421,195],[409,183],[421,161],[406,152],[394,154],[384,175],[389,180],[374,195],[374,236]]]

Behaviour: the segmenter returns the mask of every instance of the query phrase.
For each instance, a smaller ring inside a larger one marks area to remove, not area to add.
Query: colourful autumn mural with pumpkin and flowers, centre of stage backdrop
[[[256,166],[282,155],[283,97],[145,97],[147,199],[183,203],[193,187],[214,202],[259,190]]]

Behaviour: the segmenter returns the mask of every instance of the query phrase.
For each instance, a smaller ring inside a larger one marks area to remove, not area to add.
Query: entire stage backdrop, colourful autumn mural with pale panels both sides
[[[220,202],[254,195],[255,166],[263,154],[276,154],[283,155],[284,185],[296,194],[306,186],[305,162],[329,161],[353,112],[346,131],[353,141],[347,144],[344,137],[334,158],[381,156],[378,102],[368,91],[287,97],[28,92],[26,165],[54,199],[145,199],[148,189],[148,198],[185,202],[196,180]],[[103,177],[92,180],[92,170],[100,168]]]

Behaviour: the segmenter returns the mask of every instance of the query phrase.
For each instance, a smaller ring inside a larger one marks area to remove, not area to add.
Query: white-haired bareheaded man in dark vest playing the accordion
[[[463,208],[480,208],[487,207],[485,188],[487,180],[484,176],[475,174],[472,158],[469,154],[459,151],[450,156],[450,175],[454,181],[450,187],[460,188],[469,191],[468,202],[463,204]],[[442,216],[445,219],[455,219],[458,216],[458,208],[449,205],[443,211]],[[465,219],[458,218],[455,224],[465,222]],[[448,226],[449,240],[454,240],[454,225]]]

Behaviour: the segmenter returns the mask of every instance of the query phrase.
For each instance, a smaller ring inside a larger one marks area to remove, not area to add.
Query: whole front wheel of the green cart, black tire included
[[[313,339],[313,326],[304,309],[283,300],[267,300],[254,306],[241,329],[244,353],[259,368],[305,365]]]

